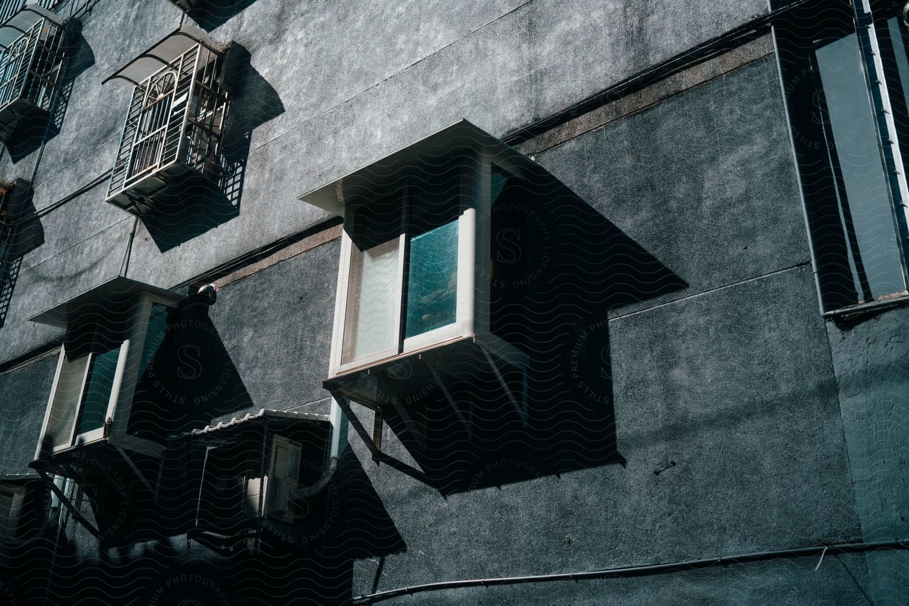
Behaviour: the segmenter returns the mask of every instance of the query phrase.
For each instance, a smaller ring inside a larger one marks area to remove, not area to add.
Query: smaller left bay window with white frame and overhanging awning
[[[168,314],[182,299],[118,277],[30,318],[66,331],[35,459],[102,441],[162,451],[143,389],[154,382],[146,375],[169,337]]]

